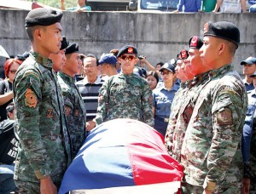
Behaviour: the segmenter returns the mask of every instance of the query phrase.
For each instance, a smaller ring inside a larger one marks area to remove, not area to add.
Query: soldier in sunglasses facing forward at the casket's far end
[[[148,82],[133,74],[137,48],[125,46],[117,55],[122,71],[110,77],[99,90],[96,124],[114,118],[131,118],[154,126],[152,91]]]

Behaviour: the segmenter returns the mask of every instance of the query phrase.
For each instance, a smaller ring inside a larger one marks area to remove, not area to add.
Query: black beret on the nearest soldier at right
[[[216,23],[208,21],[204,26],[204,37],[206,36],[223,38],[235,43],[237,47],[240,43],[240,31],[238,27],[228,21],[218,21]]]

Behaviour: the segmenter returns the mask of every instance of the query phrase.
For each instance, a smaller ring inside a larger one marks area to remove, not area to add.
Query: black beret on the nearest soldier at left
[[[26,15],[26,27],[29,26],[50,26],[61,22],[62,12],[52,9],[38,8],[32,9]]]

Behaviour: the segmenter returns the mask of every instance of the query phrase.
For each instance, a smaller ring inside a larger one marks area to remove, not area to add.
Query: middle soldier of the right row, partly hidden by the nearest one
[[[187,87],[183,90],[182,103],[177,105],[177,107],[175,104],[173,105],[177,111],[174,111],[170,117],[168,134],[166,134],[166,145],[169,145],[167,150],[179,163],[181,162],[180,153],[183,138],[195,106],[196,98],[208,79],[205,71],[209,71],[209,69],[202,66],[199,53],[202,44],[203,42],[200,37],[191,37],[189,39],[189,56],[186,53],[181,54],[184,59],[185,77],[188,79]]]

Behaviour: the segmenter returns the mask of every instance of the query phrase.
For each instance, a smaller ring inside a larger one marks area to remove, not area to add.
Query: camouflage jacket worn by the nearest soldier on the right
[[[241,133],[247,94],[239,74],[230,65],[210,71],[183,140],[181,163],[185,180],[202,186],[217,184],[217,192],[239,188],[242,176]]]

